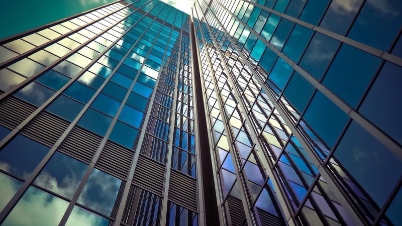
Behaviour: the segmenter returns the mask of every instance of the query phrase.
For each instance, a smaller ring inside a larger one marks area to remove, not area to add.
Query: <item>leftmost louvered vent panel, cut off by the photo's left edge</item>
[[[0,102],[0,125],[15,129],[36,110],[16,97],[8,97]]]

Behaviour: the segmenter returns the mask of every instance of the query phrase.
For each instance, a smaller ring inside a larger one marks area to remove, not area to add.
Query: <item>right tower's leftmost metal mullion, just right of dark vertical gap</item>
[[[194,14],[194,12],[192,11],[192,14]],[[192,48],[192,56],[193,57],[196,57],[197,58],[197,61],[200,63],[200,64],[203,64],[203,63],[201,63],[202,61],[201,61],[201,59],[199,58],[199,55],[197,54],[197,53],[199,53],[200,52],[200,50],[198,49],[199,47],[198,47],[198,38],[196,37],[196,30],[195,30],[195,20],[194,20],[194,18],[193,18],[193,15],[191,15],[191,17],[192,17],[192,31],[193,31],[193,33],[194,33],[194,39],[192,40],[192,41],[194,41],[195,43],[193,44],[193,47],[195,47],[195,48]],[[199,22],[199,21],[198,21]],[[198,26],[199,26],[199,24],[198,24]],[[198,31],[199,31],[199,29],[198,29]],[[192,59],[192,62],[195,62],[194,61],[194,59]],[[193,67],[193,72],[195,72],[194,70],[194,67]],[[199,70],[199,74],[200,75],[203,75],[203,71],[202,71],[202,65],[200,65],[199,66],[199,68],[198,68],[198,70]],[[204,78],[203,78],[204,76],[200,76],[200,83],[202,83],[203,82],[203,80],[204,80]],[[195,73],[193,73],[193,81],[195,82]],[[206,96],[206,90],[205,90],[205,87],[204,87],[204,83],[202,83],[202,84],[200,84],[200,87],[201,87],[201,89],[202,89],[202,94],[203,94],[203,99],[207,99],[207,96]],[[196,101],[199,99],[200,97],[198,97],[197,99],[196,99]],[[205,112],[208,112],[208,107],[207,107],[207,105],[206,104],[203,104],[203,106],[204,106],[204,111]],[[208,119],[206,120],[206,121],[210,121],[210,116],[207,114],[207,117],[208,117]],[[209,146],[210,147],[213,147],[214,146],[214,139],[212,138],[212,135],[211,135],[211,133],[210,133],[210,131],[212,131],[212,129],[211,129],[211,125],[210,125],[210,123],[206,123],[206,125],[207,125],[207,130],[208,130],[208,132],[207,132],[207,136],[209,137]],[[197,127],[198,128],[198,127]],[[198,139],[197,139],[198,140]],[[219,189],[220,189],[220,185],[219,185],[219,181],[218,181],[218,179],[217,179],[217,160],[216,160],[216,153],[215,153],[215,149],[214,148],[212,148],[212,149],[210,149],[209,150],[209,152],[210,152],[210,156],[211,156],[211,163],[212,163],[212,172],[213,172],[213,180],[214,180],[214,184],[215,184],[215,195],[216,195],[216,197],[217,197],[217,209],[218,209],[218,217],[219,217],[219,221],[220,221],[220,224],[222,224],[222,225],[224,225],[224,223],[225,223],[225,220],[224,220],[224,216],[223,216],[223,210],[222,210],[222,196],[221,196],[221,194],[220,194],[220,191],[219,191]],[[200,174],[198,174],[198,175],[200,175]],[[199,180],[202,180],[203,179],[203,177],[200,177],[199,178]],[[198,183],[200,183],[200,182],[198,182]],[[200,186],[200,185],[199,185]],[[202,189],[200,189],[200,190],[202,190]],[[202,190],[203,191],[203,190]],[[200,193],[199,191],[198,191],[198,195],[200,196],[200,197],[204,197],[203,196],[203,193]],[[202,198],[200,198],[200,200],[202,200]],[[203,202],[204,203],[204,202]],[[203,206],[204,208],[206,207],[206,206]],[[200,211],[201,212],[201,211]],[[200,221],[200,222],[202,222],[202,221]],[[205,224],[200,224],[200,225],[205,225]]]

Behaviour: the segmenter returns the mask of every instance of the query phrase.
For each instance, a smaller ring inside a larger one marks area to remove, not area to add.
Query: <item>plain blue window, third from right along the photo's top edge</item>
[[[330,0],[309,0],[299,20],[318,25]]]

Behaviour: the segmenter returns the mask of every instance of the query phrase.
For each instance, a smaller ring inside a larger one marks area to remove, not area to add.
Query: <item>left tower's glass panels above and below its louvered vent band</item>
[[[125,2],[2,43],[0,94],[63,119],[67,130],[76,125],[161,164],[170,156],[172,169],[195,180],[190,38],[179,32],[189,31],[189,16],[158,0]],[[11,129],[0,126],[0,140]],[[19,133],[2,144],[0,211],[20,194],[2,224],[115,223],[125,179],[94,168],[96,159],[88,165]],[[134,197],[142,201],[122,225],[159,224],[162,197],[139,187]],[[167,205],[166,225],[198,224],[196,212]]]

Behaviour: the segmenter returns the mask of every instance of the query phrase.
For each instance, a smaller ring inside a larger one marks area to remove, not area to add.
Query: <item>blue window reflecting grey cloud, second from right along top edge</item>
[[[362,2],[363,0],[332,1],[327,13],[325,13],[321,21],[320,27],[340,35],[346,35]]]

